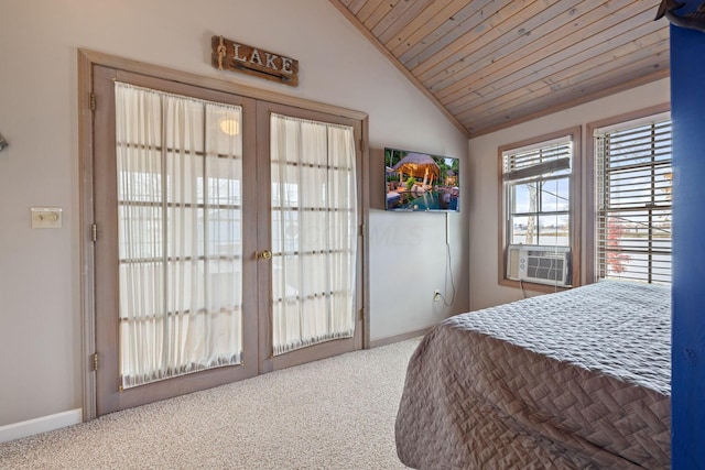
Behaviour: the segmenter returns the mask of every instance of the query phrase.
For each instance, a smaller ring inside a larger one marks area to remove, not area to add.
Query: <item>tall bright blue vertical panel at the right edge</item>
[[[693,10],[699,1],[688,1],[687,7]],[[672,468],[705,469],[703,32],[671,26],[671,111],[674,172]]]

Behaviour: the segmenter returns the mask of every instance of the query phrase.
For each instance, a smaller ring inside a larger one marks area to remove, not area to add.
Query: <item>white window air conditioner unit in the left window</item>
[[[507,249],[507,277],[539,284],[571,284],[571,249],[510,244]]]

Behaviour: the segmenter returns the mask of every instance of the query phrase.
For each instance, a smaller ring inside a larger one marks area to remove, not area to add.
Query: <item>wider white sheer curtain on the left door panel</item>
[[[241,109],[116,83],[120,374],[241,359]]]

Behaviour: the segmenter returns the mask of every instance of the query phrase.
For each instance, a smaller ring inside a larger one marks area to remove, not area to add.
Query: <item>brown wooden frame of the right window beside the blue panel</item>
[[[595,283],[599,280],[599,266],[597,265],[597,147],[595,132],[599,129],[610,127],[628,127],[631,121],[650,120],[658,114],[671,112],[670,103],[655,105],[649,108],[643,108],[637,111],[631,111],[610,118],[606,118],[599,121],[589,122],[586,124],[586,159],[585,159],[585,181],[586,188],[585,196],[585,236],[584,236],[584,252],[585,259],[583,262],[583,278],[586,283]]]

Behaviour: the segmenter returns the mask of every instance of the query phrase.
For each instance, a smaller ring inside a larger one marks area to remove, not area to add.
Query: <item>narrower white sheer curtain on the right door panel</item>
[[[274,354],[355,332],[352,128],[271,116]]]

